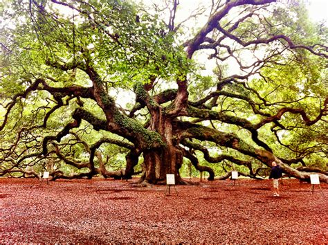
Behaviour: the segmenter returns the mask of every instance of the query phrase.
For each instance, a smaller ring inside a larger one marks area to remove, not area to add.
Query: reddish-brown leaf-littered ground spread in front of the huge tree
[[[135,187],[131,181],[0,179],[0,244],[328,242],[328,186],[286,179]]]

